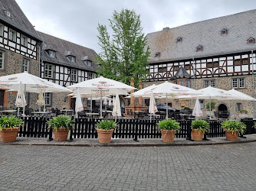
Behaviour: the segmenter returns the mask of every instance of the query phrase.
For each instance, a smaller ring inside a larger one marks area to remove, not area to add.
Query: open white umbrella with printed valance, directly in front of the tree
[[[116,93],[118,93],[118,95],[126,95],[127,92],[136,89],[113,79],[104,78],[103,76],[95,79],[89,79],[87,81],[68,86],[67,88],[71,89],[75,93],[77,86],[80,87],[81,93],[100,95],[101,98],[103,95],[115,95]],[[102,102],[100,102],[100,118],[102,118]]]

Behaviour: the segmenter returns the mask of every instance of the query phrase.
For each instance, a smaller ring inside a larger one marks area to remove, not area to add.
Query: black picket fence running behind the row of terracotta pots
[[[28,138],[52,138],[52,130],[48,129],[48,118],[24,117],[23,127],[18,132],[18,137]],[[100,119],[97,118],[76,118],[74,129],[71,130],[70,140],[73,138],[97,138],[96,126]],[[160,120],[139,120],[139,119],[117,119],[118,128],[113,132],[113,138],[134,139],[135,141],[145,138],[161,138],[157,128]],[[176,138],[187,138],[191,140],[191,120],[180,120],[180,130]],[[210,129],[205,134],[207,138],[225,137],[225,131],[221,127],[222,121],[208,121]],[[245,134],[255,134],[254,121],[243,120],[247,129]]]

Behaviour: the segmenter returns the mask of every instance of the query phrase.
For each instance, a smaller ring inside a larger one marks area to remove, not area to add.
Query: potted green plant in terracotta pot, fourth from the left
[[[172,143],[174,141],[176,131],[180,128],[179,122],[173,119],[162,120],[157,124],[157,126],[161,131],[162,142],[164,143]]]

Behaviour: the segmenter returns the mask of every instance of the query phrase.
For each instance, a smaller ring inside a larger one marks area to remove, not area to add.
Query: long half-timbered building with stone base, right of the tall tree
[[[254,96],[256,10],[163,28],[147,37],[151,75],[146,76],[146,86],[169,80],[194,89],[213,86]],[[205,101],[201,102],[204,108]],[[191,103],[187,104],[192,107]],[[236,115],[245,109],[253,117],[254,107],[253,102],[218,101],[215,109],[235,108]]]

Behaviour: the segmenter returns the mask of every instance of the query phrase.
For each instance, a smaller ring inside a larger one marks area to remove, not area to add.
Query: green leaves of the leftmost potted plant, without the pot
[[[3,116],[0,118],[0,131],[2,128],[18,128],[23,125],[24,121],[15,116]]]

